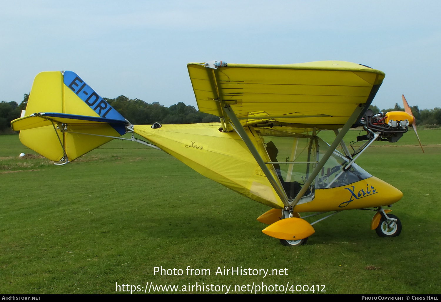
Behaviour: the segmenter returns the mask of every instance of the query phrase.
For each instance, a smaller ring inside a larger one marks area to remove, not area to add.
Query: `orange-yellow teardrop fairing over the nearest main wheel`
[[[306,220],[292,217],[279,220],[265,227],[262,232],[278,239],[299,240],[314,234],[315,230]]]

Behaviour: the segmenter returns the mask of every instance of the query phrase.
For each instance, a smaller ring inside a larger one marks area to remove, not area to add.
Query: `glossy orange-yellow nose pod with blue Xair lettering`
[[[336,188],[316,189],[312,201],[297,204],[295,212],[324,212],[373,208],[399,201],[403,193],[374,176]]]

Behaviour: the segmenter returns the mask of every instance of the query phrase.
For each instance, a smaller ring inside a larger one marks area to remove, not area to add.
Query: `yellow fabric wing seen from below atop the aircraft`
[[[187,64],[198,108],[223,118],[227,130],[232,126],[225,105],[243,126],[274,122],[341,128],[359,104],[369,107],[385,77],[382,71],[342,61],[206,66],[212,64]]]

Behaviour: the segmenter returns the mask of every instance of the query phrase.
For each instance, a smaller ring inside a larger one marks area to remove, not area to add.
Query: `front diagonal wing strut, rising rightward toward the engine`
[[[349,117],[348,121],[344,124],[343,128],[341,128],[340,133],[337,134],[336,138],[332,142],[332,144],[329,146],[326,153],[321,158],[320,162],[315,167],[314,171],[309,175],[308,179],[306,180],[305,184],[303,185],[302,189],[299,191],[297,196],[295,196],[294,200],[290,203],[292,207],[295,207],[297,203],[300,201],[300,198],[302,198],[303,194],[305,194],[306,190],[309,188],[311,183],[314,181],[315,177],[318,175],[318,173],[321,171],[321,168],[325,165],[326,161],[328,161],[329,157],[331,157],[334,150],[337,148],[338,144],[340,144],[343,140],[344,135],[348,132],[349,128],[357,121],[357,118],[359,117],[360,113],[363,111],[363,106],[359,105],[355,108],[354,112],[352,112],[352,115]]]

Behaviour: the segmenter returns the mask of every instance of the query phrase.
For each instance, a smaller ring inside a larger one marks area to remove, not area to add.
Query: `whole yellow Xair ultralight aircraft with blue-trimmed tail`
[[[163,150],[273,208],[258,220],[269,224],[265,234],[286,246],[306,243],[315,223],[350,209],[372,208],[371,229],[381,237],[400,235],[400,220],[383,207],[403,194],[355,164],[372,142],[396,142],[410,124],[416,133],[404,96],[405,112],[373,115],[367,109],[382,71],[341,61],[187,67],[199,110],[219,116],[220,123],[132,125],[74,72],[48,71],[35,77],[26,111],[12,129],[24,145],[59,165],[114,138]],[[366,131],[357,138],[366,142],[352,154],[343,141],[351,127]],[[336,134],[330,145],[318,137],[324,129]],[[120,138],[126,133],[132,137]],[[315,214],[299,215],[306,212]],[[304,220],[327,212],[333,213]]]

